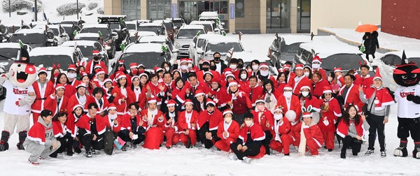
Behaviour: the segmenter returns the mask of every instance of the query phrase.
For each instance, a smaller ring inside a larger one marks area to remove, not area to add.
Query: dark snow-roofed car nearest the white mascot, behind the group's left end
[[[70,64],[76,64],[83,60],[83,54],[77,47],[36,47],[29,52],[31,63],[36,67],[42,65],[47,71],[52,70],[52,66],[60,65],[62,71],[67,71]]]

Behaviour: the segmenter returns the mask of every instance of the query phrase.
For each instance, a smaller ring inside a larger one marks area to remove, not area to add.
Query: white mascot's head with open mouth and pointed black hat
[[[9,72],[12,72],[12,75],[8,80],[12,85],[28,87],[36,80],[36,68],[34,64],[29,63],[28,51],[24,47],[20,49],[20,59],[10,66]]]

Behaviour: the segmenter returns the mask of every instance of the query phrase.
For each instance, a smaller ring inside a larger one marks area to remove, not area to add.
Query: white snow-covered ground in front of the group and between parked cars
[[[273,34],[242,36],[246,50],[261,54],[267,53],[274,39]],[[0,110],[4,101],[0,101]],[[0,131],[3,130],[3,112],[0,112]],[[319,156],[297,156],[291,149],[290,156],[275,154],[253,161],[251,165],[241,161],[230,161],[225,152],[212,152],[209,149],[186,149],[174,147],[149,150],[142,147],[127,152],[116,151],[112,156],[102,154],[87,159],[84,154],[58,156],[57,159],[40,161],[39,166],[27,163],[29,153],[18,151],[15,144],[18,135],[14,133],[9,140],[10,149],[0,152],[1,175],[419,175],[419,160],[411,156],[397,158],[393,149],[398,147],[396,105],[391,108],[391,117],[386,124],[386,158],[379,156],[377,143],[373,156],[364,156],[367,144],[362,146],[359,156],[339,158],[339,147],[333,152],[320,149]],[[414,145],[409,140],[409,153]],[[411,154],[410,154],[411,155]]]

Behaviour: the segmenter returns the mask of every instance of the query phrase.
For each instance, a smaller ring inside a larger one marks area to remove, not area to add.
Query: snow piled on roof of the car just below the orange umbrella
[[[342,43],[335,38],[335,36],[316,36],[312,43],[300,44],[304,50],[318,53],[321,59],[329,57],[333,54],[362,54],[357,47]],[[315,53],[315,54],[316,54]]]

